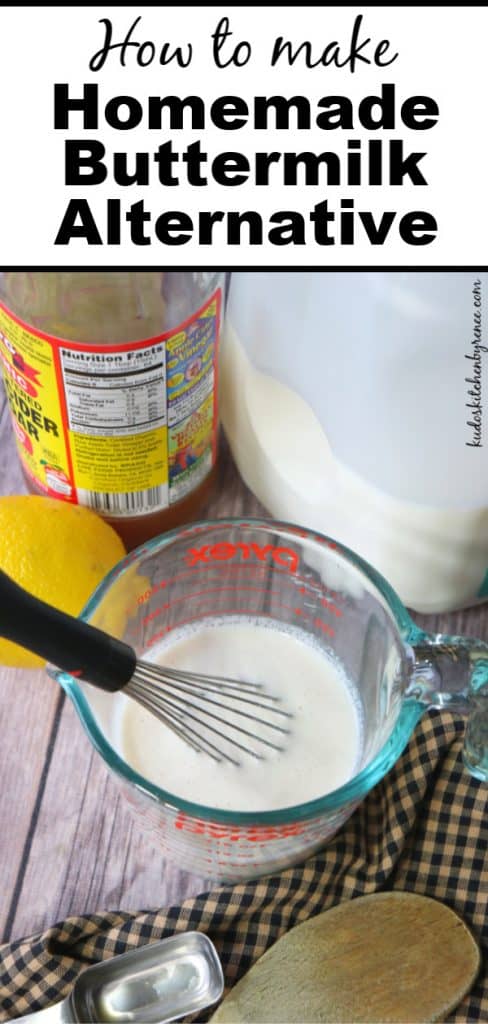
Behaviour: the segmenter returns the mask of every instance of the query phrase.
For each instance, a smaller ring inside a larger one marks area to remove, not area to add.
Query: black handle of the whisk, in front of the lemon
[[[0,569],[0,636],[115,693],[134,675],[132,647],[40,601]]]

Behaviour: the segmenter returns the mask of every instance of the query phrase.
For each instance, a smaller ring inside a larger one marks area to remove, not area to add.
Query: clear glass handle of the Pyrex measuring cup
[[[410,646],[414,665],[405,695],[468,719],[462,758],[475,778],[488,782],[488,644],[422,634]]]

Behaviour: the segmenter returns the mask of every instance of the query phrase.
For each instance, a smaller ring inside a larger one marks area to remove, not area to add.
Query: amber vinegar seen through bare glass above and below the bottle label
[[[51,337],[100,347],[143,341],[173,330],[219,288],[223,303],[223,273],[45,270],[0,274],[0,300],[19,319]],[[218,424],[215,430],[218,432]],[[23,470],[30,492],[44,494],[24,465]],[[110,515],[109,511],[97,511],[131,550],[198,518],[216,478],[214,463],[180,501],[154,512]]]

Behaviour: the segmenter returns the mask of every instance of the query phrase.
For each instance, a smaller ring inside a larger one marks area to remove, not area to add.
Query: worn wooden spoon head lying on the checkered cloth
[[[449,907],[414,893],[375,893],[298,925],[268,949],[214,1024],[424,1024],[470,990],[480,950]]]

